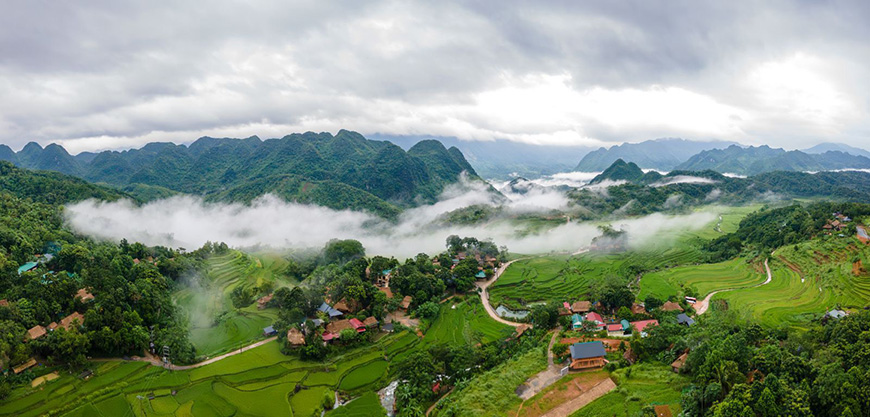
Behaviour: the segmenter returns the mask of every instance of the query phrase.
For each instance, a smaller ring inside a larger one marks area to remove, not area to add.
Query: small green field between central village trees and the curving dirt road
[[[475,344],[503,339],[514,332],[486,314],[480,298],[452,299],[441,304],[441,312],[423,338],[424,343]]]

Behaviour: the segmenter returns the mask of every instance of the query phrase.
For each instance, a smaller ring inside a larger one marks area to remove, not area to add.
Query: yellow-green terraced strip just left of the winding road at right
[[[681,296],[685,288],[691,288],[698,298],[728,288],[744,288],[758,285],[767,279],[758,265],[750,265],[745,259],[734,259],[716,264],[690,265],[644,274],[640,281],[638,298],[647,296],[667,299]]]

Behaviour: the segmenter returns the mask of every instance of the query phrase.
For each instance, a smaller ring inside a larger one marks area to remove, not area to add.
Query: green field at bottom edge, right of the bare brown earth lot
[[[630,374],[629,374],[630,371]],[[679,415],[680,395],[689,379],[671,372],[666,365],[641,364],[613,373],[617,388],[577,410],[571,417],[640,415],[648,405],[668,405]]]

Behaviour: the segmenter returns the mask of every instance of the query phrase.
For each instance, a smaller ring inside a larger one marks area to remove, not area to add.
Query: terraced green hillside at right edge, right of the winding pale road
[[[858,262],[860,261],[860,263]],[[825,311],[860,309],[870,302],[870,246],[852,237],[821,237],[780,248],[771,257],[770,284],[717,294],[729,308],[745,311],[767,326],[802,322]]]

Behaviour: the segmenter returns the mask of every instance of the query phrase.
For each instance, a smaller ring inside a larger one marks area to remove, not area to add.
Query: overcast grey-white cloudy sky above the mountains
[[[258,3],[4,2],[0,142],[870,137],[864,1]]]

